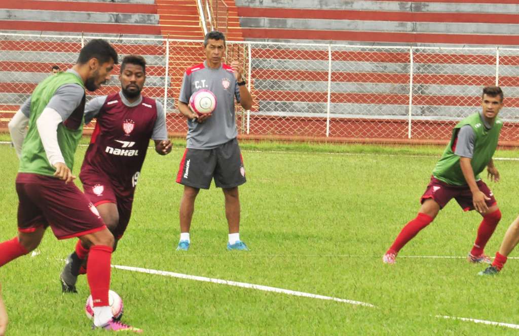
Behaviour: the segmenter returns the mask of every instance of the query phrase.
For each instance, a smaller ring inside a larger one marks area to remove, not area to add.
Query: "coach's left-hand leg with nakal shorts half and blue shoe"
[[[180,200],[180,240],[176,250],[187,251],[191,244],[189,229],[200,189],[209,189],[216,166],[214,149],[186,148],[180,162],[176,183],[184,185]]]

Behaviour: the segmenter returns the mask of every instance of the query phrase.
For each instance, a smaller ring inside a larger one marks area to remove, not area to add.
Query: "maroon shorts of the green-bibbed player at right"
[[[485,200],[488,207],[496,205],[496,199],[494,193],[488,189],[487,185],[479,180],[476,182],[477,188],[479,188],[490,200]],[[443,209],[445,205],[451,200],[455,199],[463,211],[469,211],[474,209],[472,203],[472,192],[470,192],[469,186],[453,186],[446,184],[443,181],[431,176],[431,181],[427,186],[424,194],[420,199],[420,203],[424,203],[426,199],[432,198],[436,203],[440,204],[440,208]]]

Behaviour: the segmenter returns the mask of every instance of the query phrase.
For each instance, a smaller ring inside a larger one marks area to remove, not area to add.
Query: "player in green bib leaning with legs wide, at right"
[[[453,198],[463,211],[475,209],[483,217],[467,260],[472,263],[490,263],[490,258],[483,250],[501,219],[501,212],[494,194],[481,180],[480,174],[486,167],[490,180],[499,181],[499,172],[494,166],[492,156],[503,125],[497,117],[502,106],[501,88],[485,87],[482,110],[456,125],[420,199],[421,207],[417,217],[407,223],[386,251],[383,257],[385,263],[395,263],[400,249],[428,226],[440,209]]]

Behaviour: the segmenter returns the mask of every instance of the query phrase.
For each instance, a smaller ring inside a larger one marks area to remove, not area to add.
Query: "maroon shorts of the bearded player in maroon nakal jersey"
[[[134,188],[118,188],[110,177],[103,173],[93,171],[81,171],[79,174],[83,190],[93,205],[103,203],[115,203],[119,213],[119,223],[113,232],[115,239],[121,239],[130,222],[131,208],[133,204]]]

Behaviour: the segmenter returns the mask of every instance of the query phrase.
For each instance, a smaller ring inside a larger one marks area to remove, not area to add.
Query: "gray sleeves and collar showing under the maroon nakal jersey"
[[[142,96],[139,96],[139,99],[130,103],[128,99],[126,99],[125,95],[122,92],[119,92],[119,96],[121,97],[121,102],[128,107],[138,106],[142,103]],[[93,118],[95,118],[99,114],[99,110],[103,107],[106,101],[106,95],[98,96],[90,100],[85,106],[85,123],[89,123]],[[155,120],[155,125],[153,127],[152,139],[154,140],[167,140],[168,139],[168,130],[166,129],[166,114],[164,113],[164,109],[159,102],[155,102],[157,105],[157,119]]]

